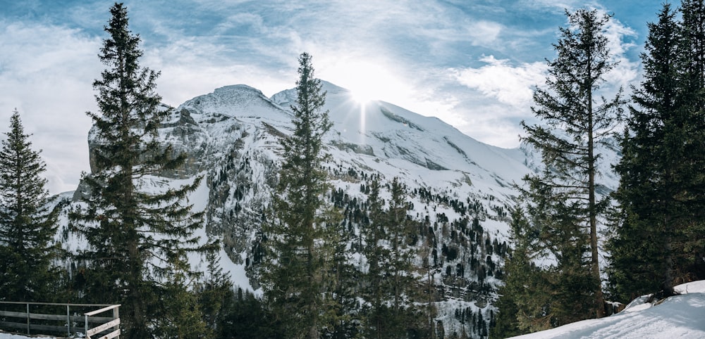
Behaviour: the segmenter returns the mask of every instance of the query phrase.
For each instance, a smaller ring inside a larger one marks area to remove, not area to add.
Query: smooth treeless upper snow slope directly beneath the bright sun
[[[326,141],[348,153],[341,159],[364,160],[353,153],[367,153],[375,160],[385,160],[383,164],[391,168],[384,165],[375,168],[376,165],[368,162],[365,165],[391,177],[407,173],[410,179],[418,179],[419,184],[434,187],[465,174],[482,183],[482,188],[496,188],[499,186],[496,181],[510,185],[528,172],[518,150],[489,146],[436,117],[424,117],[391,103],[370,101],[361,105],[353,101],[350,91],[329,82],[323,84],[327,92],[326,108],[333,122]],[[294,90],[284,91],[272,99],[288,107],[294,93]]]

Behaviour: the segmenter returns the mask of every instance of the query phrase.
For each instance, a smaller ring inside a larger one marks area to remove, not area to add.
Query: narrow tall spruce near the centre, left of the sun
[[[266,261],[262,272],[264,298],[290,338],[319,338],[330,328],[330,291],[336,223],[326,205],[327,174],[322,169],[323,136],[331,128],[322,110],[326,93],[314,77],[312,58],[299,57],[298,97],[293,134],[281,140],[283,163],[271,220],[263,225]]]

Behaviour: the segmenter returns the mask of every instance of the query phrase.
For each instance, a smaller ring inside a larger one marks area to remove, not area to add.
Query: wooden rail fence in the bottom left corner
[[[97,307],[101,307],[96,309]],[[120,305],[0,302],[0,328],[27,334],[83,333],[87,339],[120,338]],[[61,311],[59,311],[61,309]],[[66,313],[63,313],[66,309]],[[73,309],[73,314],[72,314]],[[88,309],[94,309],[86,312]],[[111,316],[98,316],[112,311]],[[57,314],[61,312],[61,314]],[[81,314],[82,315],[79,315]]]

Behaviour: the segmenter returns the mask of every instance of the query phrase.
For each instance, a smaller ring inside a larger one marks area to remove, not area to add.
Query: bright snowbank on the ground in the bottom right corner
[[[577,321],[517,339],[705,338],[705,281],[676,286],[681,295],[657,305],[635,299],[623,312],[602,319]]]

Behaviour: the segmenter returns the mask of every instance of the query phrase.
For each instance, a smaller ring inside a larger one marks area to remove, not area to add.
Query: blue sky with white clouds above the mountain
[[[47,160],[52,193],[87,171],[86,111],[102,27],[113,1],[0,0],[0,131],[13,108]],[[248,84],[271,96],[294,86],[297,57],[341,87],[452,124],[475,139],[518,146],[544,82],[564,11],[613,13],[607,33],[620,65],[614,87],[639,81],[646,23],[662,1],[329,0],[125,1],[142,37],[142,65],[179,105],[217,87]],[[678,5],[678,2],[675,3]],[[606,87],[608,90],[613,86]]]

